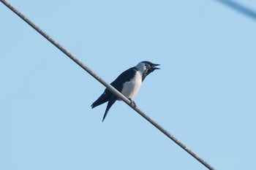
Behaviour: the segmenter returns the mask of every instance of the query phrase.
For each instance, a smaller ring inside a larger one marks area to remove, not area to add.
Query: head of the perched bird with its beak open
[[[156,66],[160,66],[158,63],[151,63],[149,61],[141,61],[138,63],[137,66],[135,66],[139,72],[143,75],[143,80],[146,78],[148,74],[151,72],[154,72],[154,70],[159,69]]]

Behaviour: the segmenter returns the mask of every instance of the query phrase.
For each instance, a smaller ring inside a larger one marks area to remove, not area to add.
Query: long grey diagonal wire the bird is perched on
[[[89,74],[91,74],[92,77],[94,77],[96,80],[98,80],[100,83],[102,83],[102,85],[104,85],[106,88],[108,88],[108,90],[110,90],[114,95],[116,95],[118,98],[121,98],[122,101],[124,101],[126,104],[129,105],[129,107],[132,107],[132,109],[134,109],[136,112],[138,112],[138,114],[140,114],[142,117],[144,117],[146,120],[148,120],[149,123],[151,123],[152,125],[154,125],[156,128],[159,129],[159,131],[162,131],[163,134],[165,134],[168,138],[170,138],[171,140],[173,140],[173,142],[175,142],[176,144],[178,144],[178,146],[180,146],[182,149],[184,149],[186,152],[189,153],[189,155],[192,155],[192,157],[194,157],[197,161],[199,161],[200,163],[202,163],[204,166],[206,166],[206,168],[214,170],[214,168],[212,166],[210,166],[206,161],[204,161],[202,158],[200,158],[195,152],[192,152],[192,150],[190,150],[186,145],[184,145],[183,143],[181,143],[178,139],[176,139],[176,137],[174,137],[172,134],[170,134],[168,131],[165,130],[165,128],[162,128],[161,125],[159,125],[156,121],[154,121],[153,119],[151,119],[151,117],[148,117],[148,115],[146,115],[146,113],[144,113],[142,110],[140,110],[138,107],[133,107],[131,104],[131,101],[129,101],[128,98],[126,98],[123,94],[121,94],[118,90],[116,90],[116,88],[113,88],[110,84],[108,84],[108,82],[105,82],[105,80],[103,80],[101,77],[99,77],[99,75],[97,75],[96,73],[94,73],[91,69],[89,69],[88,66],[84,65],[82,62],[80,62],[77,58],[75,58],[74,55],[72,55],[71,53],[69,53],[64,47],[62,47],[61,45],[59,45],[59,43],[57,43],[53,38],[51,38],[48,34],[46,34],[44,31],[42,31],[41,28],[39,28],[38,26],[36,26],[31,20],[29,20],[29,18],[26,18],[25,15],[23,15],[21,12],[18,11],[18,9],[15,9],[15,7],[13,7],[10,3],[8,3],[7,1],[4,0],[0,0],[4,5],[6,5],[9,9],[12,10],[12,12],[15,12],[16,15],[18,15],[22,20],[24,20],[26,23],[29,24],[29,26],[31,26],[32,28],[34,28],[34,30],[36,30],[39,34],[41,34],[42,36],[45,37],[45,39],[48,39],[48,41],[50,43],[52,43],[55,47],[57,47],[59,50],[61,50],[65,55],[67,55],[72,61],[75,61],[75,63],[77,63],[82,69],[84,69],[86,72],[88,72]]]

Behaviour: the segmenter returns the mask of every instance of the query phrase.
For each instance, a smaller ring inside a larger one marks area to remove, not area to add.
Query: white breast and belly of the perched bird
[[[138,93],[141,84],[142,75],[140,72],[136,72],[135,77],[132,80],[124,83],[121,93],[127,98],[134,98],[136,93]]]

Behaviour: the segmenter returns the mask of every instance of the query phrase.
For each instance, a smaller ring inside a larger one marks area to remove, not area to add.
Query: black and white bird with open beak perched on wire
[[[159,65],[160,64],[151,63],[149,61],[141,61],[140,63],[138,63],[137,66],[127,69],[126,71],[121,73],[116,78],[116,80],[110,83],[110,85],[116,88],[116,90],[118,90],[124,96],[129,98],[131,103],[135,105],[134,101],[132,101],[132,98],[134,98],[135,94],[138,93],[140,85],[142,84],[146,76],[151,72],[154,72],[155,69],[159,69],[156,67]],[[108,114],[108,110],[110,109],[110,107],[112,107],[116,100],[120,99],[116,97],[113,93],[111,93],[110,90],[108,90],[108,88],[106,88],[104,93],[102,93],[102,95],[99,96],[99,98],[96,101],[94,101],[93,104],[91,104],[91,109],[99,106],[100,104],[104,104],[108,101],[108,105],[102,119],[103,122]]]

